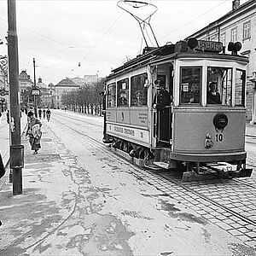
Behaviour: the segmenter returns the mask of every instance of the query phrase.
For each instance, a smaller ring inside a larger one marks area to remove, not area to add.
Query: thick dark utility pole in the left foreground
[[[20,138],[20,86],[18,36],[16,31],[15,0],[8,0],[8,55],[9,55],[9,98],[10,98],[10,168],[12,169],[13,195],[22,194],[22,168],[24,146]]]

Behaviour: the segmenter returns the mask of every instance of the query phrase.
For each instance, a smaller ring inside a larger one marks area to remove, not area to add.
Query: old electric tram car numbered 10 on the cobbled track
[[[240,49],[230,42],[226,53],[220,42],[189,38],[146,47],[113,69],[105,84],[103,142],[141,166],[183,167],[184,181],[205,170],[251,176],[245,151],[248,59]]]

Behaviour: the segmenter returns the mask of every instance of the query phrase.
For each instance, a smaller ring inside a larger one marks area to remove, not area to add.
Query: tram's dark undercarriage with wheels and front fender
[[[170,148],[150,149],[136,143],[125,141],[118,137],[106,136],[104,143],[114,153],[126,160],[130,160],[137,166],[152,169],[154,171],[170,170],[171,172],[183,172],[182,181],[191,182],[214,178],[250,177],[253,169],[246,167],[246,160],[218,161],[189,161],[172,159]]]

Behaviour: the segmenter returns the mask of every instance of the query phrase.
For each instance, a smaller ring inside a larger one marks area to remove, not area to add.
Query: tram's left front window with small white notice
[[[201,98],[201,67],[181,67],[181,104],[199,104]]]

